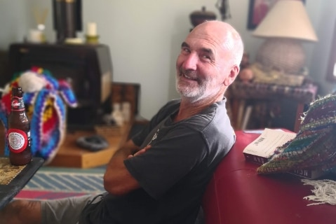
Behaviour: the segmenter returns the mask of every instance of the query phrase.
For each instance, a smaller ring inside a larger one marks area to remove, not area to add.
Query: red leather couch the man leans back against
[[[293,174],[260,175],[243,149],[259,134],[236,131],[236,144],[217,167],[203,197],[206,224],[336,223],[336,206],[303,199],[312,195]]]

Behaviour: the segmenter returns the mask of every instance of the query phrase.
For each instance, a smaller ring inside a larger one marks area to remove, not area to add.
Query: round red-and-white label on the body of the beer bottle
[[[9,149],[13,153],[21,153],[22,151],[27,148],[27,144],[29,141],[29,135],[22,130],[18,129],[10,129],[8,130],[8,144],[9,144]]]

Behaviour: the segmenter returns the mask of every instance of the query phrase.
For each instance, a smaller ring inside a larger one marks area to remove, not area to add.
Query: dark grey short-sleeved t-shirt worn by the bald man
[[[168,102],[133,137],[138,146],[152,146],[124,161],[141,188],[121,197],[108,194],[102,211],[90,217],[93,223],[195,222],[206,185],[235,137],[225,100],[173,123],[179,106],[180,100]]]

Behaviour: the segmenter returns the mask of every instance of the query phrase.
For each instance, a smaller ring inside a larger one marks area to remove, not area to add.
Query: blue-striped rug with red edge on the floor
[[[54,200],[104,191],[104,169],[43,168],[15,196],[15,200]]]

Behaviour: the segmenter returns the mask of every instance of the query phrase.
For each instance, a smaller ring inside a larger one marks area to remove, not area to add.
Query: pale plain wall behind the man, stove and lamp
[[[206,6],[220,14],[217,0],[82,0],[83,28],[87,22],[97,22],[100,43],[109,45],[114,67],[114,81],[140,83],[140,114],[151,118],[175,92],[175,59],[180,44],[192,28],[189,15]],[[29,29],[36,27],[32,10],[49,8],[46,21],[48,42],[55,41],[52,29],[51,0],[0,0],[0,49],[22,41]],[[246,29],[249,0],[229,0],[231,19],[243,37],[246,51],[253,60],[261,38]],[[328,59],[330,39],[335,22],[336,1],[306,0],[307,12],[320,42],[307,44],[307,64],[325,92],[332,85],[325,82],[325,60]],[[330,5],[332,7],[330,7]],[[328,12],[328,13],[325,13]],[[328,14],[328,15],[327,15]],[[330,20],[332,18],[332,21]],[[85,30],[84,30],[85,31]],[[77,34],[83,37],[83,32]]]

